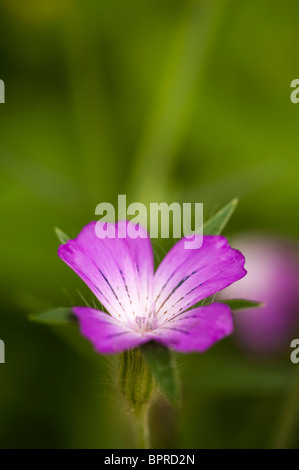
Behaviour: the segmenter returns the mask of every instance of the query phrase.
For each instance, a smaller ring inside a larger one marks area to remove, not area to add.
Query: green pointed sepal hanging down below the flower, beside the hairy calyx
[[[178,371],[171,351],[151,341],[141,346],[141,352],[161,391],[173,405],[180,401]]]

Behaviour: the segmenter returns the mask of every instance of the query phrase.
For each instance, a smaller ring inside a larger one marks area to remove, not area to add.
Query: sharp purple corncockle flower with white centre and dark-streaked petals
[[[204,236],[195,250],[184,248],[182,238],[154,273],[149,236],[129,238],[128,223],[105,224],[115,237],[98,238],[91,222],[58,250],[109,312],[72,309],[96,351],[119,353],[154,340],[179,352],[204,352],[231,334],[227,305],[192,307],[246,274],[243,255],[222,236]]]

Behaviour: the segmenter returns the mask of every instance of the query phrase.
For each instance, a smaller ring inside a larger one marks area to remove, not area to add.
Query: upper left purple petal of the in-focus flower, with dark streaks
[[[99,238],[96,228],[106,226],[114,238]],[[60,245],[58,255],[88,285],[109,313],[128,326],[149,311],[153,288],[150,238],[126,236],[128,222],[91,222],[77,238]],[[119,236],[123,238],[119,238]]]

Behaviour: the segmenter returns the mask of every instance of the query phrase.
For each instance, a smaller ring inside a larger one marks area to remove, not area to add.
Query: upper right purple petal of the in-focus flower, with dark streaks
[[[215,294],[246,274],[244,256],[221,236],[205,236],[195,250],[182,238],[160,264],[154,278],[158,320],[165,321]]]

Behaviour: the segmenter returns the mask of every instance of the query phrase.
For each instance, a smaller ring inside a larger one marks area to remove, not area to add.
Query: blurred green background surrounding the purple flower
[[[75,236],[118,194],[203,202],[205,218],[239,197],[225,235],[259,246],[254,300],[272,299],[259,315],[279,343],[248,348],[237,328],[179,357],[183,406],[156,404],[153,446],[299,446],[298,14],[296,0],[0,0],[1,448],[134,445],[111,359],[76,327],[28,321],[82,305],[88,288],[58,258],[54,227]],[[283,271],[263,255],[270,238]],[[154,241],[156,260],[172,243]]]

